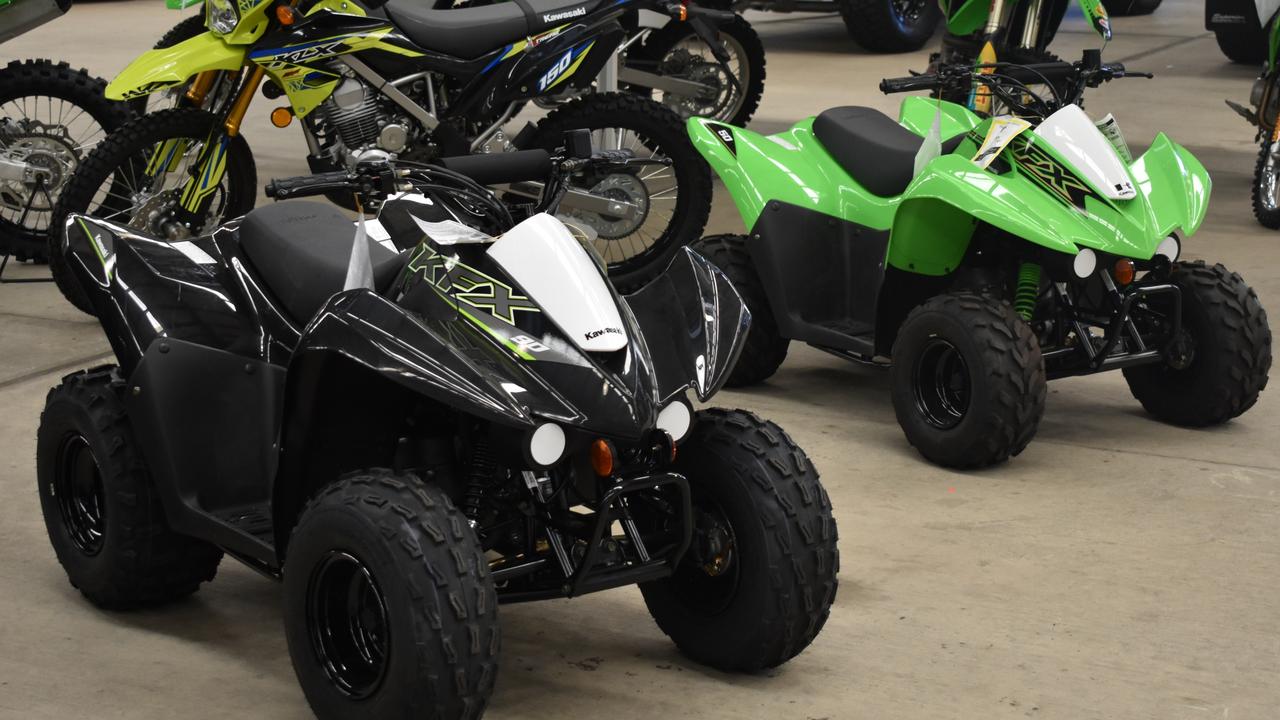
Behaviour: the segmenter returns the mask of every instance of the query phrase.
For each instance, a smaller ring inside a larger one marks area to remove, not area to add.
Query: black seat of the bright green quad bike
[[[924,145],[884,113],[854,105],[824,110],[813,120],[813,135],[850,177],[881,197],[901,195],[911,184],[915,154]],[[961,140],[964,133],[943,140],[942,152]]]

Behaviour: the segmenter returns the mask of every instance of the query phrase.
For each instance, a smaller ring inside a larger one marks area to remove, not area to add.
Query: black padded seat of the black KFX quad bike
[[[306,323],[347,281],[356,225],[323,202],[276,202],[252,210],[239,245],[271,295],[293,320]],[[369,241],[374,288],[385,292],[404,266],[403,255]]]

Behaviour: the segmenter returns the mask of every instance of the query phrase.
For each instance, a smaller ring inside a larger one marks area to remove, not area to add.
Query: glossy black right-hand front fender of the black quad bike
[[[724,273],[685,247],[662,275],[625,300],[649,347],[662,398],[689,387],[701,401],[716,395],[751,325]]]

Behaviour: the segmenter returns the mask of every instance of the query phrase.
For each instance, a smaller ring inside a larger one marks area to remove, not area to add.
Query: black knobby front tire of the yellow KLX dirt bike
[[[204,142],[218,126],[216,117],[195,108],[163,110],[129,122],[111,133],[81,163],[54,208],[55,227],[61,227],[68,214],[81,213],[129,224],[142,234],[159,236],[151,228],[137,227],[132,217],[133,210],[124,206],[123,199],[134,190],[131,183],[138,183],[145,176],[142,165],[155,145],[173,138],[195,138]],[[179,172],[170,174],[177,176],[178,181],[183,179]],[[238,218],[253,209],[253,202],[257,200],[257,169],[243,136],[236,136],[228,146],[223,182],[227,192],[215,199],[215,202],[221,201],[216,210],[221,220]],[[102,188],[108,188],[111,195],[100,196]],[[93,306],[88,295],[81,288],[79,281],[67,266],[58,247],[51,250],[49,269],[58,283],[58,290],[72,305],[92,315]]]

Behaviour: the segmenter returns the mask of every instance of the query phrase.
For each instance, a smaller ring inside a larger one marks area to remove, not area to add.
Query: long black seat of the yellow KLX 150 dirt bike
[[[422,0],[390,0],[381,10],[424,50],[470,60],[581,18],[600,1],[524,0],[438,10]]]

